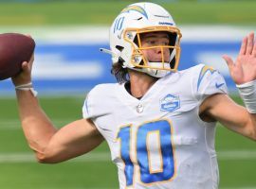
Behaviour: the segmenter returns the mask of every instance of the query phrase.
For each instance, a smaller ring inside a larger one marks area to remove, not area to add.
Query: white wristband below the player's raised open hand
[[[236,87],[238,88],[239,94],[247,107],[247,111],[250,113],[256,113],[256,80],[236,85]]]

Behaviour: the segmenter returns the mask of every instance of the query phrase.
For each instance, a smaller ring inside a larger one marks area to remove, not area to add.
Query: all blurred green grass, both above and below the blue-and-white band
[[[0,26],[109,26],[119,11],[133,2],[137,1],[1,3]],[[256,26],[256,1],[158,2],[172,12],[178,25]],[[83,96],[40,96],[40,101],[58,127],[82,117]],[[15,99],[0,95],[0,107],[0,189],[119,187],[117,170],[105,143],[92,154],[66,163],[36,163],[20,128]],[[220,188],[256,189],[255,142],[220,126],[216,149]]]

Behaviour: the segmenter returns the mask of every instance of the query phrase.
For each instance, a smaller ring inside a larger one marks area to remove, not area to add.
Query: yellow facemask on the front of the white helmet
[[[165,32],[169,36],[168,44],[155,44],[151,46],[142,46],[141,38],[143,35],[154,32]],[[154,26],[145,28],[127,28],[123,32],[123,39],[131,45],[131,60],[124,63],[124,67],[135,69],[140,72],[145,72],[153,77],[164,77],[171,71],[176,71],[179,56],[180,56],[180,38],[179,30],[174,26]],[[160,51],[160,60],[148,60],[143,55],[146,50]],[[169,51],[169,56],[166,58],[166,51]],[[165,53],[164,53],[165,52]]]

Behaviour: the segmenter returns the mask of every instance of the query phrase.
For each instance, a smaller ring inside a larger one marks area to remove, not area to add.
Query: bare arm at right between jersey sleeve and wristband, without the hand
[[[247,112],[228,94],[213,94],[200,106],[200,115],[207,121],[219,121],[226,128],[256,140],[256,114]]]

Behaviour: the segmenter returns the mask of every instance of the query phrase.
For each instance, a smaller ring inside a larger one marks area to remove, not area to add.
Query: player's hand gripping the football
[[[31,56],[28,62],[24,61],[22,63],[22,71],[18,75],[11,77],[12,83],[15,86],[23,85],[31,82],[31,71],[32,71],[33,61],[34,61],[34,55]]]

